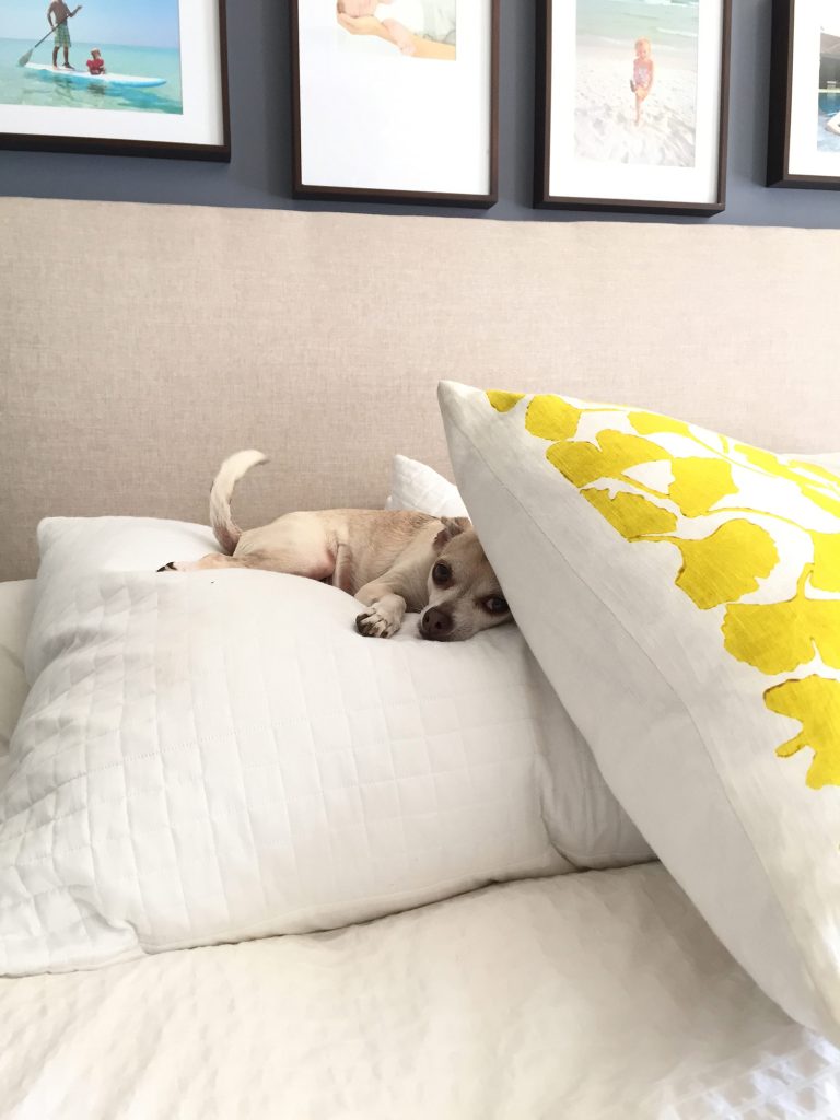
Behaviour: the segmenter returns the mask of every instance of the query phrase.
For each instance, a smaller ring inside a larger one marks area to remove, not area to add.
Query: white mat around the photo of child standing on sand
[[[724,0],[699,4],[694,166],[600,162],[576,152],[577,0],[550,0],[548,194],[557,198],[712,204],[718,198]],[[632,48],[633,44],[628,44]],[[627,78],[633,73],[628,54]]]

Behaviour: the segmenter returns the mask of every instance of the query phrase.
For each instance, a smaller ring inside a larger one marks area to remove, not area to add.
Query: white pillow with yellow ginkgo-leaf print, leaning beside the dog
[[[840,1037],[840,477],[681,420],[440,389],[514,616],[734,955]]]

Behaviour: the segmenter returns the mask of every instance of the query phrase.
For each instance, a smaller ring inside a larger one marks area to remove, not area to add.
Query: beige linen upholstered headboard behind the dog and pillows
[[[381,505],[435,386],[556,389],[840,446],[840,231],[0,200],[0,578],[48,514]]]

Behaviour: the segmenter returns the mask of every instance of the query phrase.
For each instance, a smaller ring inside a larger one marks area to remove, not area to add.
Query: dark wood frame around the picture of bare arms
[[[306,0],[304,0],[306,2]],[[487,0],[491,6],[491,114],[489,114],[489,190],[487,194],[449,194],[438,190],[390,190],[380,187],[319,186],[302,181],[300,118],[300,0],[290,0],[291,17],[291,97],[293,184],[292,197],[311,202],[395,203],[421,206],[452,206],[489,209],[498,202],[498,65],[501,0]]]

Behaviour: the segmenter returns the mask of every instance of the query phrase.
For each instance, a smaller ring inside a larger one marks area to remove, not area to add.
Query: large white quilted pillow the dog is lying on
[[[211,540],[143,519],[39,526],[34,683],[0,793],[0,972],[651,858],[515,626],[377,641],[318,582],[155,572]]]

